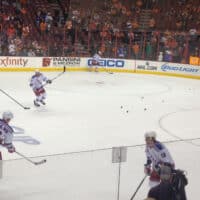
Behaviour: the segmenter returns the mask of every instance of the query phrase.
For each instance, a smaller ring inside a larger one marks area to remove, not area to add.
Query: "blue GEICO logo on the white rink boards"
[[[93,59],[88,60],[88,66],[92,66]],[[124,61],[123,60],[106,60],[106,59],[100,59],[99,60],[99,66],[102,67],[124,67]]]

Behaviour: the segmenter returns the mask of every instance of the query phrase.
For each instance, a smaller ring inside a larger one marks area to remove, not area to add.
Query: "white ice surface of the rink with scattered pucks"
[[[33,72],[0,73],[0,113],[14,113],[16,154],[3,152],[0,200],[130,200],[144,177],[144,133],[157,132],[176,168],[187,172],[189,200],[200,196],[200,81],[155,75],[66,72],[34,107]],[[44,73],[53,78],[59,72]],[[112,162],[113,147],[126,162]],[[148,179],[134,199],[143,200]]]

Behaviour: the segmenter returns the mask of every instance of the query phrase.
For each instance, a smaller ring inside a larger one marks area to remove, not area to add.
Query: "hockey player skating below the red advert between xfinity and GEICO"
[[[34,105],[39,107],[40,103],[45,105],[46,91],[44,89],[45,83],[51,83],[46,76],[44,76],[38,69],[35,71],[35,74],[31,77],[30,87],[33,89],[33,92],[36,96],[34,100]]]

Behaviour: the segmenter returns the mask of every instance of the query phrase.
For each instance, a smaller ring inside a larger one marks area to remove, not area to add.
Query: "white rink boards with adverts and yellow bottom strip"
[[[1,72],[34,71],[88,71],[92,58],[81,57],[0,57]],[[200,79],[200,66],[146,60],[102,58],[99,71],[167,75]]]

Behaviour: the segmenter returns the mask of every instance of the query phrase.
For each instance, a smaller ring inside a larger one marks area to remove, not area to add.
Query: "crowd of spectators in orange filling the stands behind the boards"
[[[200,56],[197,0],[2,0],[0,10],[1,56]]]

